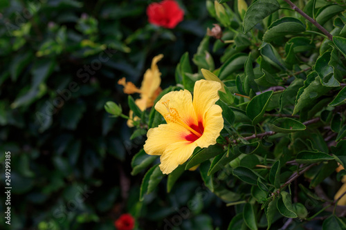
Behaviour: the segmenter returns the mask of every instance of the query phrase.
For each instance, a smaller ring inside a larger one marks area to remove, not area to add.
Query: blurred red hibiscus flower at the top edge
[[[183,21],[184,12],[174,0],[164,0],[161,3],[151,3],[147,7],[149,23],[172,29]]]

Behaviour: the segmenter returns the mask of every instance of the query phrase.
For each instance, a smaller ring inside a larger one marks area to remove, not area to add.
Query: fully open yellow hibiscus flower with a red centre
[[[216,144],[224,128],[222,109],[215,104],[221,84],[199,80],[194,84],[194,99],[188,90],[167,93],[155,105],[167,124],[150,128],[144,151],[161,155],[160,169],[171,173],[186,162],[197,146],[206,148]]]

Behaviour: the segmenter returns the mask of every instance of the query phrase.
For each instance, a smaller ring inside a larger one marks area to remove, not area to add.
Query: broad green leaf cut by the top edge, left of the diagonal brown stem
[[[243,32],[250,31],[257,23],[280,9],[280,4],[275,0],[258,0],[246,10],[243,21]]]

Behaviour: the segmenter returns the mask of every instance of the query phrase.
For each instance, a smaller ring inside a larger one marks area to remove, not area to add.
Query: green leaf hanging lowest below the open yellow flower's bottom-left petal
[[[161,172],[158,164],[152,166],[152,168],[145,173],[142,184],[140,185],[139,200],[143,201],[145,194],[149,194],[154,191],[158,183],[161,182],[162,178],[163,173]]]

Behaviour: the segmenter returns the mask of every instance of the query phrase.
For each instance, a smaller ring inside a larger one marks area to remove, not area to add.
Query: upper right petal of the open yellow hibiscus
[[[199,119],[203,119],[209,108],[219,99],[221,84],[215,81],[199,80],[194,84],[193,106]]]

